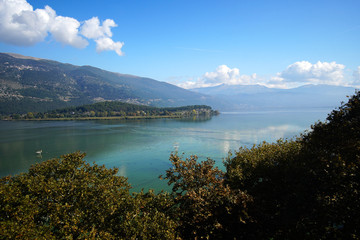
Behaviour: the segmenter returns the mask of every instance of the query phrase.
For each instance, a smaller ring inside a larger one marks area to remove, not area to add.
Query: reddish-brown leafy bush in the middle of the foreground
[[[173,168],[164,179],[172,185],[172,196],[179,219],[178,230],[184,239],[232,239],[233,227],[248,220],[246,204],[251,199],[224,184],[224,173],[208,159],[198,162],[196,156],[182,160],[171,155]]]

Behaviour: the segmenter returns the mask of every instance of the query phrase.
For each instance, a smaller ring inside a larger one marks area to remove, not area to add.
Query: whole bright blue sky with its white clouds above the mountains
[[[184,88],[360,86],[359,0],[0,0],[0,52]]]

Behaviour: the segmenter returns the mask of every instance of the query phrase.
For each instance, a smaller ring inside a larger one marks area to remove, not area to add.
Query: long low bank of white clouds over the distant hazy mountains
[[[183,88],[212,87],[220,84],[227,85],[254,85],[267,87],[292,88],[305,84],[327,84],[337,86],[350,86],[360,84],[360,67],[353,73],[354,81],[346,75],[345,65],[336,62],[320,62],[312,64],[308,61],[299,61],[290,64],[285,70],[271,76],[259,77],[240,74],[239,68],[229,68],[220,65],[213,72],[206,72],[197,80],[190,80],[178,84]]]

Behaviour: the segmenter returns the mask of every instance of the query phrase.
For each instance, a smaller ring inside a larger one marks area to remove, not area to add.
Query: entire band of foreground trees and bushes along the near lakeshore
[[[169,193],[72,153],[0,181],[5,239],[359,239],[360,93],[293,140],[170,155]]]

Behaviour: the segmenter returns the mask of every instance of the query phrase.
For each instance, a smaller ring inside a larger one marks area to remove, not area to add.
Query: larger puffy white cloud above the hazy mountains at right
[[[345,85],[345,66],[336,62],[295,62],[278,73],[283,82]]]

